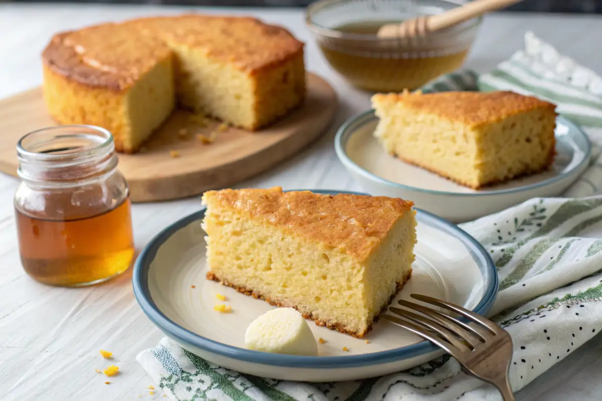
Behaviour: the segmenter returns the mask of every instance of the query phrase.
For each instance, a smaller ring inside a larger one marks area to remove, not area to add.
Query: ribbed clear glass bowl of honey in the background
[[[321,0],[305,21],[324,58],[352,85],[374,92],[415,90],[458,69],[481,18],[424,37],[380,38],[380,26],[460,7],[445,0]]]

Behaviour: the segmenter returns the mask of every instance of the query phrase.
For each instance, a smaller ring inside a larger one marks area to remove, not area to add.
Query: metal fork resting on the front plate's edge
[[[465,373],[493,384],[500,390],[504,401],[514,401],[508,381],[508,368],[512,359],[510,334],[491,320],[458,305],[425,295],[410,296],[418,301],[453,311],[470,320],[472,324],[441,311],[403,300],[397,302],[421,314],[389,307],[389,311],[407,320],[388,314],[381,317],[438,345],[462,364]]]

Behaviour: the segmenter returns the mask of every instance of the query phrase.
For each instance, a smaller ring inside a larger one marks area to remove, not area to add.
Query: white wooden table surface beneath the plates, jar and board
[[[178,13],[182,8],[140,5],[0,4],[0,97],[41,83],[40,52],[54,32],[108,20]],[[368,108],[369,94],[336,76],[318,54],[303,26],[300,10],[228,9],[220,13],[255,14],[280,23],[302,38],[309,70],[327,78],[338,91],[335,126],[296,158],[238,186],[275,186],[359,190],[335,157],[334,128]],[[484,72],[522,46],[532,30],[563,53],[602,73],[602,16],[501,14],[487,17],[467,67]],[[596,39],[597,38],[597,39]],[[25,133],[25,132],[24,132]],[[0,135],[2,133],[0,132]],[[135,360],[161,333],[138,308],[131,272],[85,289],[46,287],[23,272],[17,252],[12,196],[17,180],[0,176],[0,399],[128,400],[163,399],[145,390],[151,379]],[[133,207],[137,249],[158,231],[198,210],[198,198]],[[517,394],[518,400],[602,399],[602,337],[577,349]],[[105,385],[95,373],[107,364],[99,350],[114,353],[122,372]]]

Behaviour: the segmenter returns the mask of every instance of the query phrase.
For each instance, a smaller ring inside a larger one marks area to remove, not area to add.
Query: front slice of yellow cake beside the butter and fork
[[[203,194],[207,278],[362,337],[409,279],[412,202],[224,189]]]

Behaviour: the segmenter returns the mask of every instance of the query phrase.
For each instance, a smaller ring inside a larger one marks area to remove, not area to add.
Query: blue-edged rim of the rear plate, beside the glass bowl
[[[458,193],[458,192],[436,191],[435,189],[418,188],[416,186],[400,184],[397,182],[389,181],[387,179],[383,179],[382,177],[379,177],[376,174],[370,173],[370,171],[365,170],[362,167],[359,167],[358,164],[356,164],[354,161],[352,161],[351,158],[349,158],[349,156],[347,156],[347,152],[345,150],[347,142],[349,141],[349,138],[353,135],[353,133],[355,133],[355,131],[356,131],[355,129],[351,129],[351,128],[355,124],[363,125],[363,124],[367,123],[368,118],[370,118],[370,120],[374,120],[375,118],[377,118],[376,115],[374,114],[374,109],[364,111],[361,114],[358,114],[358,115],[355,115],[355,116],[349,118],[337,130],[337,135],[335,135],[335,153],[337,154],[337,158],[339,159],[339,161],[347,168],[347,170],[353,170],[354,173],[364,176],[365,178],[370,179],[374,182],[377,182],[377,183],[380,183],[383,185],[387,185],[387,186],[393,186],[396,188],[408,189],[410,191],[423,192],[426,194],[445,195],[445,196],[450,196],[450,197],[482,197],[482,196],[504,195],[504,194],[513,194],[516,192],[529,191],[530,189],[540,188],[542,186],[547,186],[554,182],[565,179],[566,176],[569,175],[569,173],[579,170],[580,168],[583,167],[583,165],[585,165],[589,162],[589,159],[591,159],[592,144],[591,144],[591,141],[589,141],[588,136],[585,134],[585,132],[583,132],[583,129],[576,123],[573,123],[573,121],[568,120],[565,117],[558,116],[557,121],[562,122],[563,124],[568,126],[569,129],[578,133],[582,137],[583,141],[585,142],[585,157],[579,164],[577,164],[571,170],[566,171],[565,173],[562,173],[562,174],[558,174],[557,176],[550,177],[547,180],[543,180],[543,181],[533,183],[530,185],[521,186],[519,188],[497,189],[495,191],[481,191],[481,192],[475,192],[473,194],[462,194],[462,193]]]

